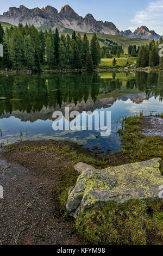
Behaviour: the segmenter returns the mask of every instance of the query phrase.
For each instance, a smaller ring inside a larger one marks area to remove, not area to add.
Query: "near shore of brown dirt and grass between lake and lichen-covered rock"
[[[67,193],[79,175],[73,168],[74,164],[83,161],[97,169],[104,169],[160,156],[161,137],[152,136],[152,144],[148,142],[150,136],[144,136],[142,140],[140,135],[140,132],[152,127],[147,119],[151,117],[126,119],[127,130],[120,131],[125,151],[114,154],[100,154],[68,141],[26,141],[4,147],[0,153],[0,178],[4,187],[4,199],[0,199],[3,211],[1,244],[90,244],[84,234],[78,236],[74,220],[66,214]],[[137,127],[140,127],[139,130]],[[159,127],[157,129],[160,130]],[[139,140],[141,144],[145,143],[146,148],[143,145],[137,148]],[[149,155],[143,154],[142,150],[144,153],[149,151]],[[160,241],[153,242],[162,244]]]

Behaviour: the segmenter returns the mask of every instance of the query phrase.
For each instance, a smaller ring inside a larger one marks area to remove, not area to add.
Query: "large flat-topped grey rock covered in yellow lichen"
[[[114,200],[124,203],[130,199],[159,198],[163,185],[161,159],[129,163],[103,170],[85,169],[68,193],[66,208],[76,217],[83,210]]]

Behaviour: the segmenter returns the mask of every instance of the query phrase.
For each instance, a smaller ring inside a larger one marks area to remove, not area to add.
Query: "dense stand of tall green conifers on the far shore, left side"
[[[53,68],[93,70],[101,62],[101,48],[96,34],[91,42],[86,34],[74,31],[72,37],[51,28],[37,31],[33,25],[6,28],[0,24],[0,43],[3,44],[1,66],[4,68],[40,70],[41,65]]]

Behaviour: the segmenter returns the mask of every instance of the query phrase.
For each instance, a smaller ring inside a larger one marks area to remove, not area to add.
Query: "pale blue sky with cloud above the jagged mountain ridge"
[[[62,5],[70,5],[80,16],[91,13],[96,20],[113,22],[120,30],[147,26],[163,35],[163,0],[6,0],[1,3],[0,13],[9,7],[24,5],[29,9],[51,5],[60,11]]]

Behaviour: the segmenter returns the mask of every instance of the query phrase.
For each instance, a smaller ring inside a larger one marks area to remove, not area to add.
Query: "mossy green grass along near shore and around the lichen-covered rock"
[[[112,155],[92,153],[73,143],[65,145],[64,142],[24,142],[5,148],[4,156],[26,167],[30,167],[30,159],[35,154],[40,156],[46,153],[52,159],[54,154],[55,159],[57,157],[61,162],[66,161],[68,166],[58,171],[59,183],[54,189],[54,196],[60,202],[60,214],[68,220],[65,203],[67,192],[74,186],[79,175],[73,168],[77,162],[83,161],[97,169],[103,169],[155,157],[163,159],[163,139],[159,136],[143,135],[144,118],[140,113],[139,116],[123,119],[122,130],[119,131],[122,151]],[[162,118],[162,114],[158,118]],[[38,164],[40,168],[40,160]],[[163,166],[161,172],[163,174]],[[99,209],[85,211],[74,221],[74,225],[78,236],[91,245],[162,245],[163,202],[131,200],[121,205],[110,202]]]

